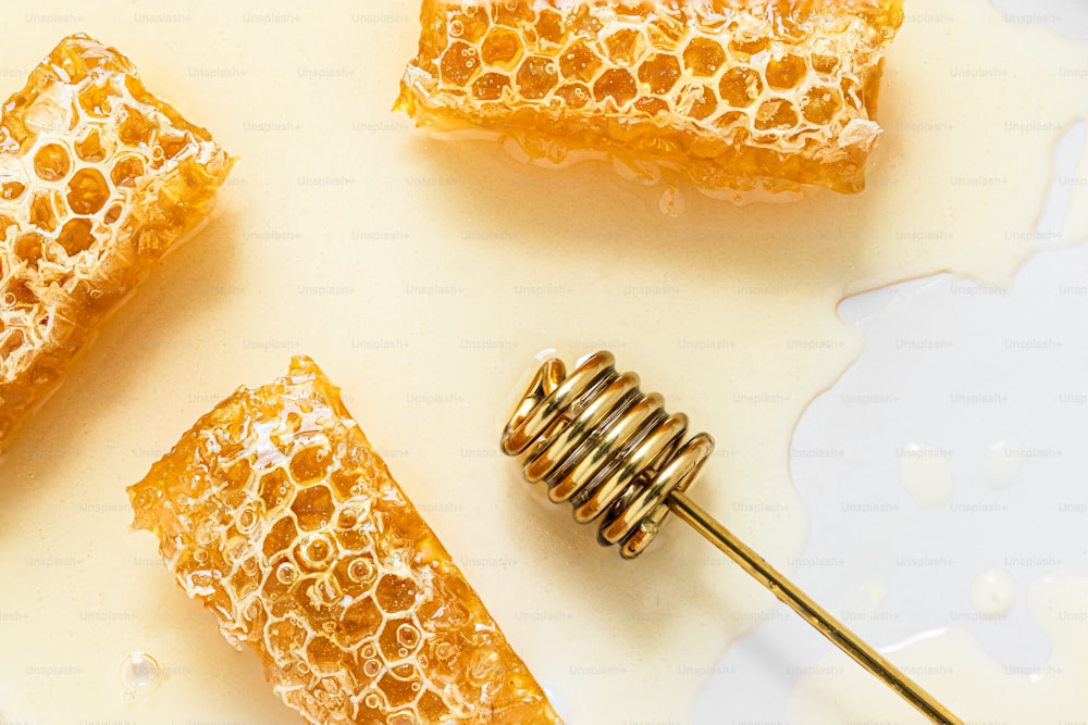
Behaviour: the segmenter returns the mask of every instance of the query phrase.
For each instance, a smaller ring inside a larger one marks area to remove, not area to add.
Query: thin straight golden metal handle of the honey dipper
[[[831,640],[831,642],[849,654],[855,662],[879,677],[888,687],[895,690],[904,700],[935,723],[944,725],[963,725],[963,721],[948,711],[944,705],[934,699],[913,679],[903,674],[895,665],[881,657],[866,645],[844,624],[831,616],[823,607],[808,598],[792,582],[782,576],[774,566],[767,563],[743,541],[732,535],[729,529],[715,521],[698,504],[680,491],[673,491],[667,499],[668,507],[680,518],[702,534],[710,543],[725,552],[730,559],[754,576],[759,584],[770,589],[778,599],[800,614],[808,624]]]

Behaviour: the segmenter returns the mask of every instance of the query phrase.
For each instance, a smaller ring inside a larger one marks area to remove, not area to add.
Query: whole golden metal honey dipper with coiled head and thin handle
[[[503,450],[523,457],[526,479],[545,482],[555,503],[570,501],[578,522],[601,518],[597,540],[619,545],[625,559],[642,553],[675,513],[919,712],[935,723],[962,725],[688,498],[714,439],[701,433],[684,440],[688,416],[666,413],[660,395],[644,395],[639,376],[618,373],[614,362],[610,352],[595,352],[567,375],[562,361],[544,361],[503,432]]]

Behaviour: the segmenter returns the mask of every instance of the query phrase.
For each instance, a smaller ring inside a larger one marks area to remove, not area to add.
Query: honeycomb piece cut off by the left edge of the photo
[[[210,211],[231,159],[132,62],[64,38],[0,117],[0,447]]]

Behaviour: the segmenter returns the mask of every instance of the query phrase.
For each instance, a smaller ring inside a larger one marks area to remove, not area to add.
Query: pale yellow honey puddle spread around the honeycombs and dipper
[[[53,5],[82,20],[0,9],[25,27],[5,86],[81,23],[242,162],[217,218],[152,272],[0,462],[0,723],[297,723],[256,658],[176,590],[152,537],[128,533],[124,493],[293,352],[344,389],[569,723],[692,722],[696,693],[729,674],[722,652],[777,616],[772,600],[679,524],[625,564],[521,483],[497,441],[533,354],[613,349],[717,439],[693,498],[789,568],[808,515],[791,434],[862,346],[839,300],[940,270],[1004,286],[1033,252],[1088,237],[1088,162],[1053,166],[1056,139],[1088,115],[1085,48],[982,0],[908,3],[864,193],[742,209],[410,129],[388,113],[418,35],[409,0]],[[1052,187],[1068,213],[1040,230]],[[973,657],[959,640],[926,649],[940,641],[904,653]],[[156,687],[121,682],[132,652],[159,663]]]

